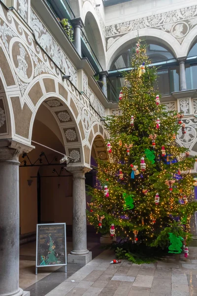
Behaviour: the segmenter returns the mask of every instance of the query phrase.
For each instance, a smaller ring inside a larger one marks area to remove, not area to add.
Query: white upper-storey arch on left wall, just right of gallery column
[[[89,1],[83,5],[82,20],[85,24],[85,31],[89,39],[90,45],[98,57],[99,63],[103,70],[106,70],[105,59],[105,37],[101,34],[102,28],[99,23],[99,18],[94,7]]]

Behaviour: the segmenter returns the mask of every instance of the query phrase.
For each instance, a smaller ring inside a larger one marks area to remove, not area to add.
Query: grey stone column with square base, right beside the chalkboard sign
[[[67,261],[68,263],[87,264],[92,260],[92,252],[87,249],[85,173],[90,172],[91,168],[68,166],[66,170],[73,175],[72,251]]]

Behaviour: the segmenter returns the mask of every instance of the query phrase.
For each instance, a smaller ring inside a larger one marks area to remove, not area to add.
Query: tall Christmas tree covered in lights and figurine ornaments
[[[197,210],[190,174],[195,158],[176,144],[180,129],[183,137],[186,133],[183,114],[167,112],[160,103],[157,69],[150,64],[146,46],[139,41],[132,70],[124,74],[119,115],[106,118],[109,157],[98,160],[97,185],[89,190],[92,200],[87,212],[103,235],[146,246],[173,220],[187,236]]]

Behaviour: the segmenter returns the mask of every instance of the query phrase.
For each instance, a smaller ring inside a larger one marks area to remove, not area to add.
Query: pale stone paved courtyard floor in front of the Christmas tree
[[[122,260],[109,264],[107,250],[80,268],[47,296],[197,296],[197,247],[189,259],[165,258],[151,264]]]

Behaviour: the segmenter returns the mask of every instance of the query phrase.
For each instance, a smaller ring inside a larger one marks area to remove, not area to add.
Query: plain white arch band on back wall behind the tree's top
[[[182,56],[181,45],[179,44],[179,42],[173,36],[164,31],[152,28],[143,29],[139,31],[138,36],[145,37],[147,40],[155,40],[157,41],[158,45],[159,43],[161,45],[163,44],[165,47],[170,49],[175,58]],[[120,37],[111,45],[111,47],[106,52],[107,70],[110,69],[112,62],[119,51],[123,49],[127,43],[134,42],[136,40],[136,37],[137,32],[131,31],[130,33]]]

